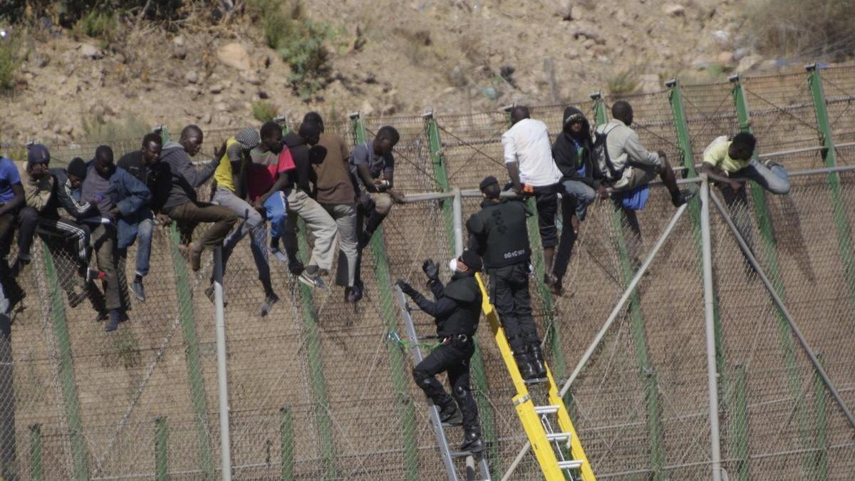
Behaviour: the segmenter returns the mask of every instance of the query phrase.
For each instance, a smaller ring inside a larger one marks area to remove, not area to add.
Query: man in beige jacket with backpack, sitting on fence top
[[[608,123],[597,127],[597,134],[605,136],[605,148],[598,159],[604,181],[598,187],[598,193],[605,199],[609,196],[606,187],[612,192],[627,192],[649,184],[659,176],[671,193],[671,204],[679,207],[693,197],[693,193],[681,191],[677,186],[674,169],[663,151],[647,151],[638,134],[632,128],[633,107],[624,100],[618,100],[611,106]]]

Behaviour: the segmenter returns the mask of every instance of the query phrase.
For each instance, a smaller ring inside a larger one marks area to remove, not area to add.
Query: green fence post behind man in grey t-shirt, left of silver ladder
[[[354,145],[368,141],[365,124],[361,115],[351,115],[351,128]],[[371,253],[374,254],[374,280],[379,291],[380,312],[389,332],[398,330],[398,316],[393,302],[392,274],[389,271],[389,261],[386,258],[383,226],[379,226],[371,237]],[[409,376],[404,353],[397,343],[386,342],[391,360],[392,386],[398,397],[398,424],[404,434],[404,464],[406,478],[414,481],[419,478],[418,446],[416,445],[416,408],[410,396]]]

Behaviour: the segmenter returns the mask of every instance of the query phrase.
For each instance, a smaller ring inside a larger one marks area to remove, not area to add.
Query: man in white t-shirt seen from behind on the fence
[[[540,243],[543,246],[544,272],[549,273],[558,244],[555,216],[558,211],[557,192],[561,170],[552,160],[552,145],[544,122],[532,119],[528,107],[522,105],[510,110],[510,122],[511,127],[502,134],[504,166],[508,169],[514,192],[534,195]],[[548,274],[545,276],[548,277]]]

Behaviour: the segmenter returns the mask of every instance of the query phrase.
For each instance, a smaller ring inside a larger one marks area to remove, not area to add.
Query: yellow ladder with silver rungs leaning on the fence
[[[591,464],[585,455],[585,450],[582,449],[579,436],[576,436],[576,430],[567,413],[567,408],[564,407],[564,401],[558,395],[558,387],[555,379],[552,378],[549,366],[546,367],[549,404],[534,406],[534,401],[528,394],[528,386],[522,380],[514,355],[510,351],[508,339],[504,336],[502,324],[498,321],[496,309],[490,304],[490,296],[486,292],[481,274],[476,274],[475,279],[478,281],[478,287],[481,288],[484,316],[490,323],[492,336],[496,339],[498,351],[502,353],[504,365],[507,366],[510,379],[516,388],[516,395],[512,400],[516,414],[520,418],[522,429],[526,431],[528,442],[531,442],[534,456],[537,458],[544,478],[546,481],[561,481],[566,479],[564,476],[566,473],[570,479],[596,481],[591,470]],[[555,418],[558,421],[557,430],[554,429],[554,423],[551,421]],[[562,448],[569,448],[571,459],[564,459]],[[578,472],[578,475],[574,476],[573,472]]]

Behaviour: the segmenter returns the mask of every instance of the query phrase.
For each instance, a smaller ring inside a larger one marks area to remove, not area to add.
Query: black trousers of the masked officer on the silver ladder
[[[463,413],[463,429],[467,432],[481,434],[481,424],[478,422],[478,405],[469,388],[469,358],[475,353],[475,345],[472,340],[466,341],[452,336],[423,359],[413,368],[413,378],[416,384],[425,392],[425,395],[433,401],[440,409],[451,405],[449,396],[442,384],[436,380],[440,372],[448,372],[448,382],[451,384],[451,393],[457,407]]]

